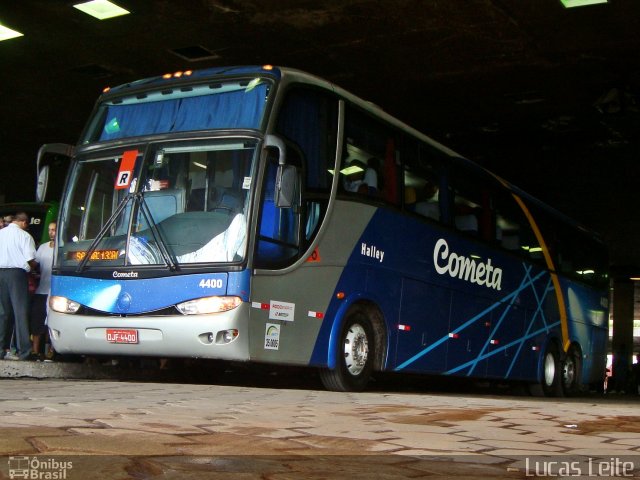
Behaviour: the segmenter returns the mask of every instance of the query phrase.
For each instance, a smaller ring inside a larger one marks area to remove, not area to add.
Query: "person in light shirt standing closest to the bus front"
[[[36,251],[36,262],[40,270],[40,282],[35,294],[31,297],[31,339],[33,352],[44,360],[41,352],[42,340],[47,333],[47,302],[51,291],[51,267],[53,266],[53,239],[56,238],[56,222],[49,224],[49,241],[43,243]]]

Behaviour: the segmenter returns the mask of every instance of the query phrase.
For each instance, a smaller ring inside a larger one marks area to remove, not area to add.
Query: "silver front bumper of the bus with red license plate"
[[[86,316],[49,312],[53,348],[61,355],[154,356],[249,360],[249,305],[180,316]]]

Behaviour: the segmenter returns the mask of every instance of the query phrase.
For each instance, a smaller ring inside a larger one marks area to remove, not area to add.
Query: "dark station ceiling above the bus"
[[[296,67],[371,100],[600,231],[640,267],[640,0],[0,0],[0,196],[74,143],[107,85],[185,68]]]

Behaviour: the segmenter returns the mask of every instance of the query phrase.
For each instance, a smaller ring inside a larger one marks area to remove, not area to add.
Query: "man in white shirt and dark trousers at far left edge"
[[[0,230],[0,345],[5,344],[7,322],[13,309],[18,359],[31,359],[29,341],[29,282],[27,274],[36,266],[36,245],[27,232],[29,215],[19,212]],[[5,352],[0,352],[2,358]]]

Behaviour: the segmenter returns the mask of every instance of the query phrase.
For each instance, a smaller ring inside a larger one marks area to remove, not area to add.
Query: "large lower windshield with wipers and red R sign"
[[[257,144],[165,142],[79,157],[60,226],[58,265],[242,261]]]

